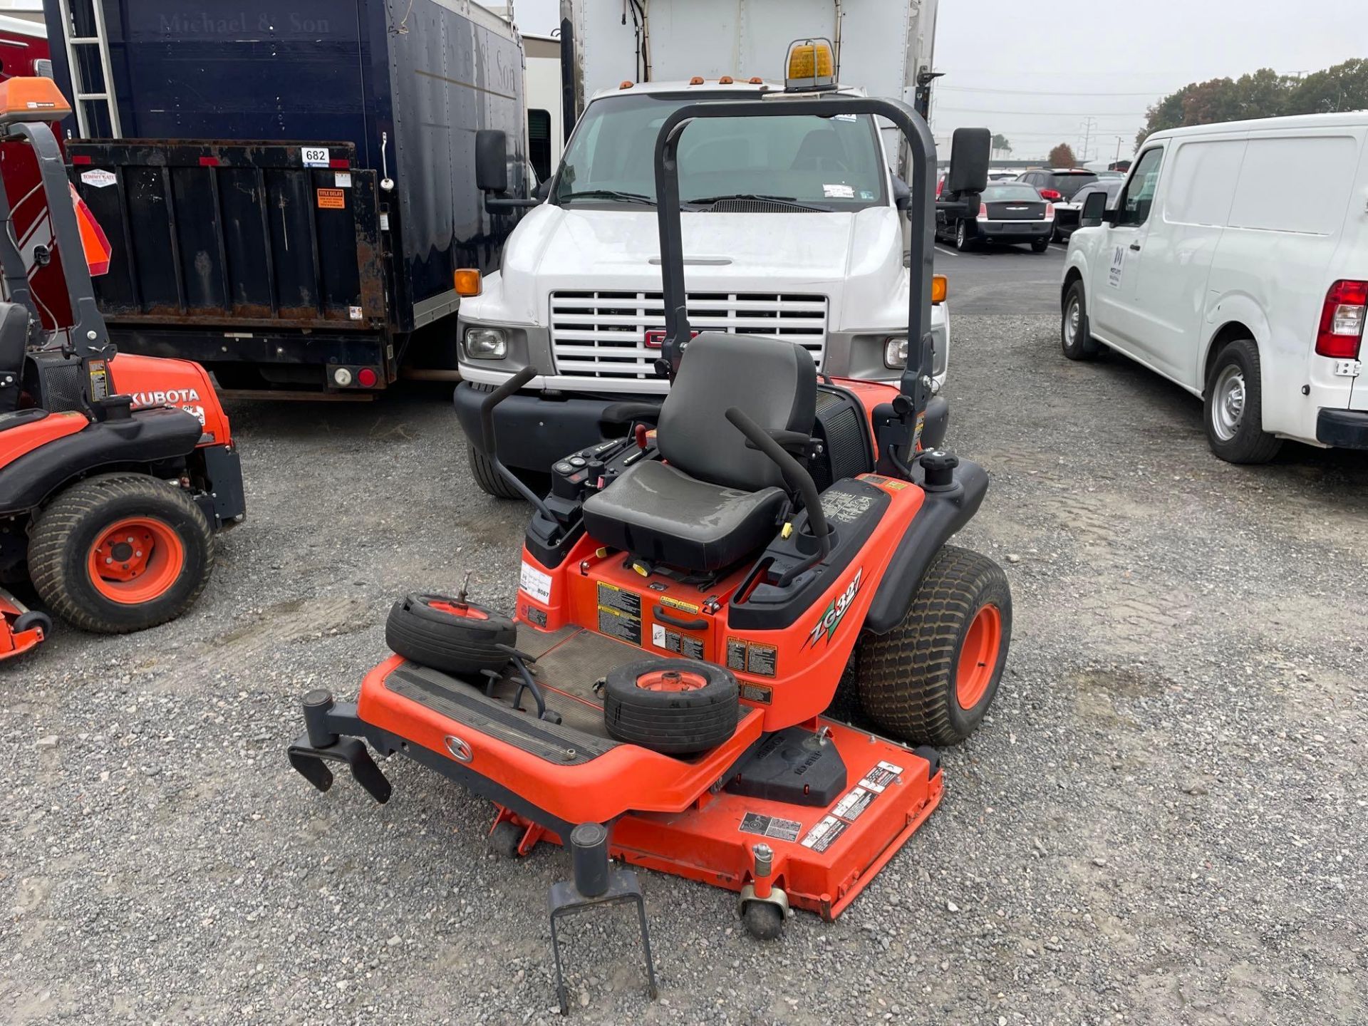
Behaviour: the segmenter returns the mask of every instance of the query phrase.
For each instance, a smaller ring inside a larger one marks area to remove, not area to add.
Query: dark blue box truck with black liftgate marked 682
[[[45,0],[77,112],[71,181],[114,246],[120,350],[220,387],[373,391],[456,378],[458,268],[498,267],[516,211],[475,183],[506,134],[527,196],[523,44],[469,0]]]

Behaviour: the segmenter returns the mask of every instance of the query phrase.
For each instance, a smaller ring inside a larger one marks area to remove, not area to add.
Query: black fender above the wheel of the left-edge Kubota
[[[0,469],[0,514],[36,509],[59,487],[92,471],[186,457],[201,431],[198,417],[170,406],[137,410],[124,420],[92,421]]]

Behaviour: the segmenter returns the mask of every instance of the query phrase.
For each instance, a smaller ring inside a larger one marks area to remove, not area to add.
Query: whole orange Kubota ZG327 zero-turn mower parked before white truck
[[[688,123],[862,114],[911,144],[919,346],[902,382],[832,380],[795,343],[692,332],[676,168]],[[982,130],[962,131],[962,176],[986,179]],[[993,700],[1007,579],[947,544],[988,476],[923,445],[934,168],[925,120],[889,100],[720,101],[666,118],[663,405],[624,404],[627,436],[555,464],[544,498],[501,469],[536,509],[512,616],[464,594],[410,595],[390,614],[395,654],[354,703],[305,698],[290,759],[320,791],[328,763],[346,763],[383,802],[369,751],[402,754],[488,798],[503,854],[572,850],[573,878],[550,896],[562,1007],[560,918],[640,910],[633,870],[610,855],[735,891],[757,937],[795,908],[834,919],[940,802],[937,747]],[[535,375],[484,404],[497,465],[492,410]],[[644,914],[642,926],[644,938]],[[654,992],[648,940],[647,973]]]

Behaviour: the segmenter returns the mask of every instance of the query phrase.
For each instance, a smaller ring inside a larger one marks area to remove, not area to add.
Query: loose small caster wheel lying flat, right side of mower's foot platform
[[[662,755],[715,748],[736,731],[736,677],[696,659],[643,659],[603,680],[609,736]]]

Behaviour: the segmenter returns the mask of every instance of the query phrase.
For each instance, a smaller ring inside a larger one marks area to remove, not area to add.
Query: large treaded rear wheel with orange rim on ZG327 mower
[[[903,622],[862,642],[860,705],[908,744],[958,744],[997,694],[1011,636],[1007,575],[986,555],[945,546]]]

